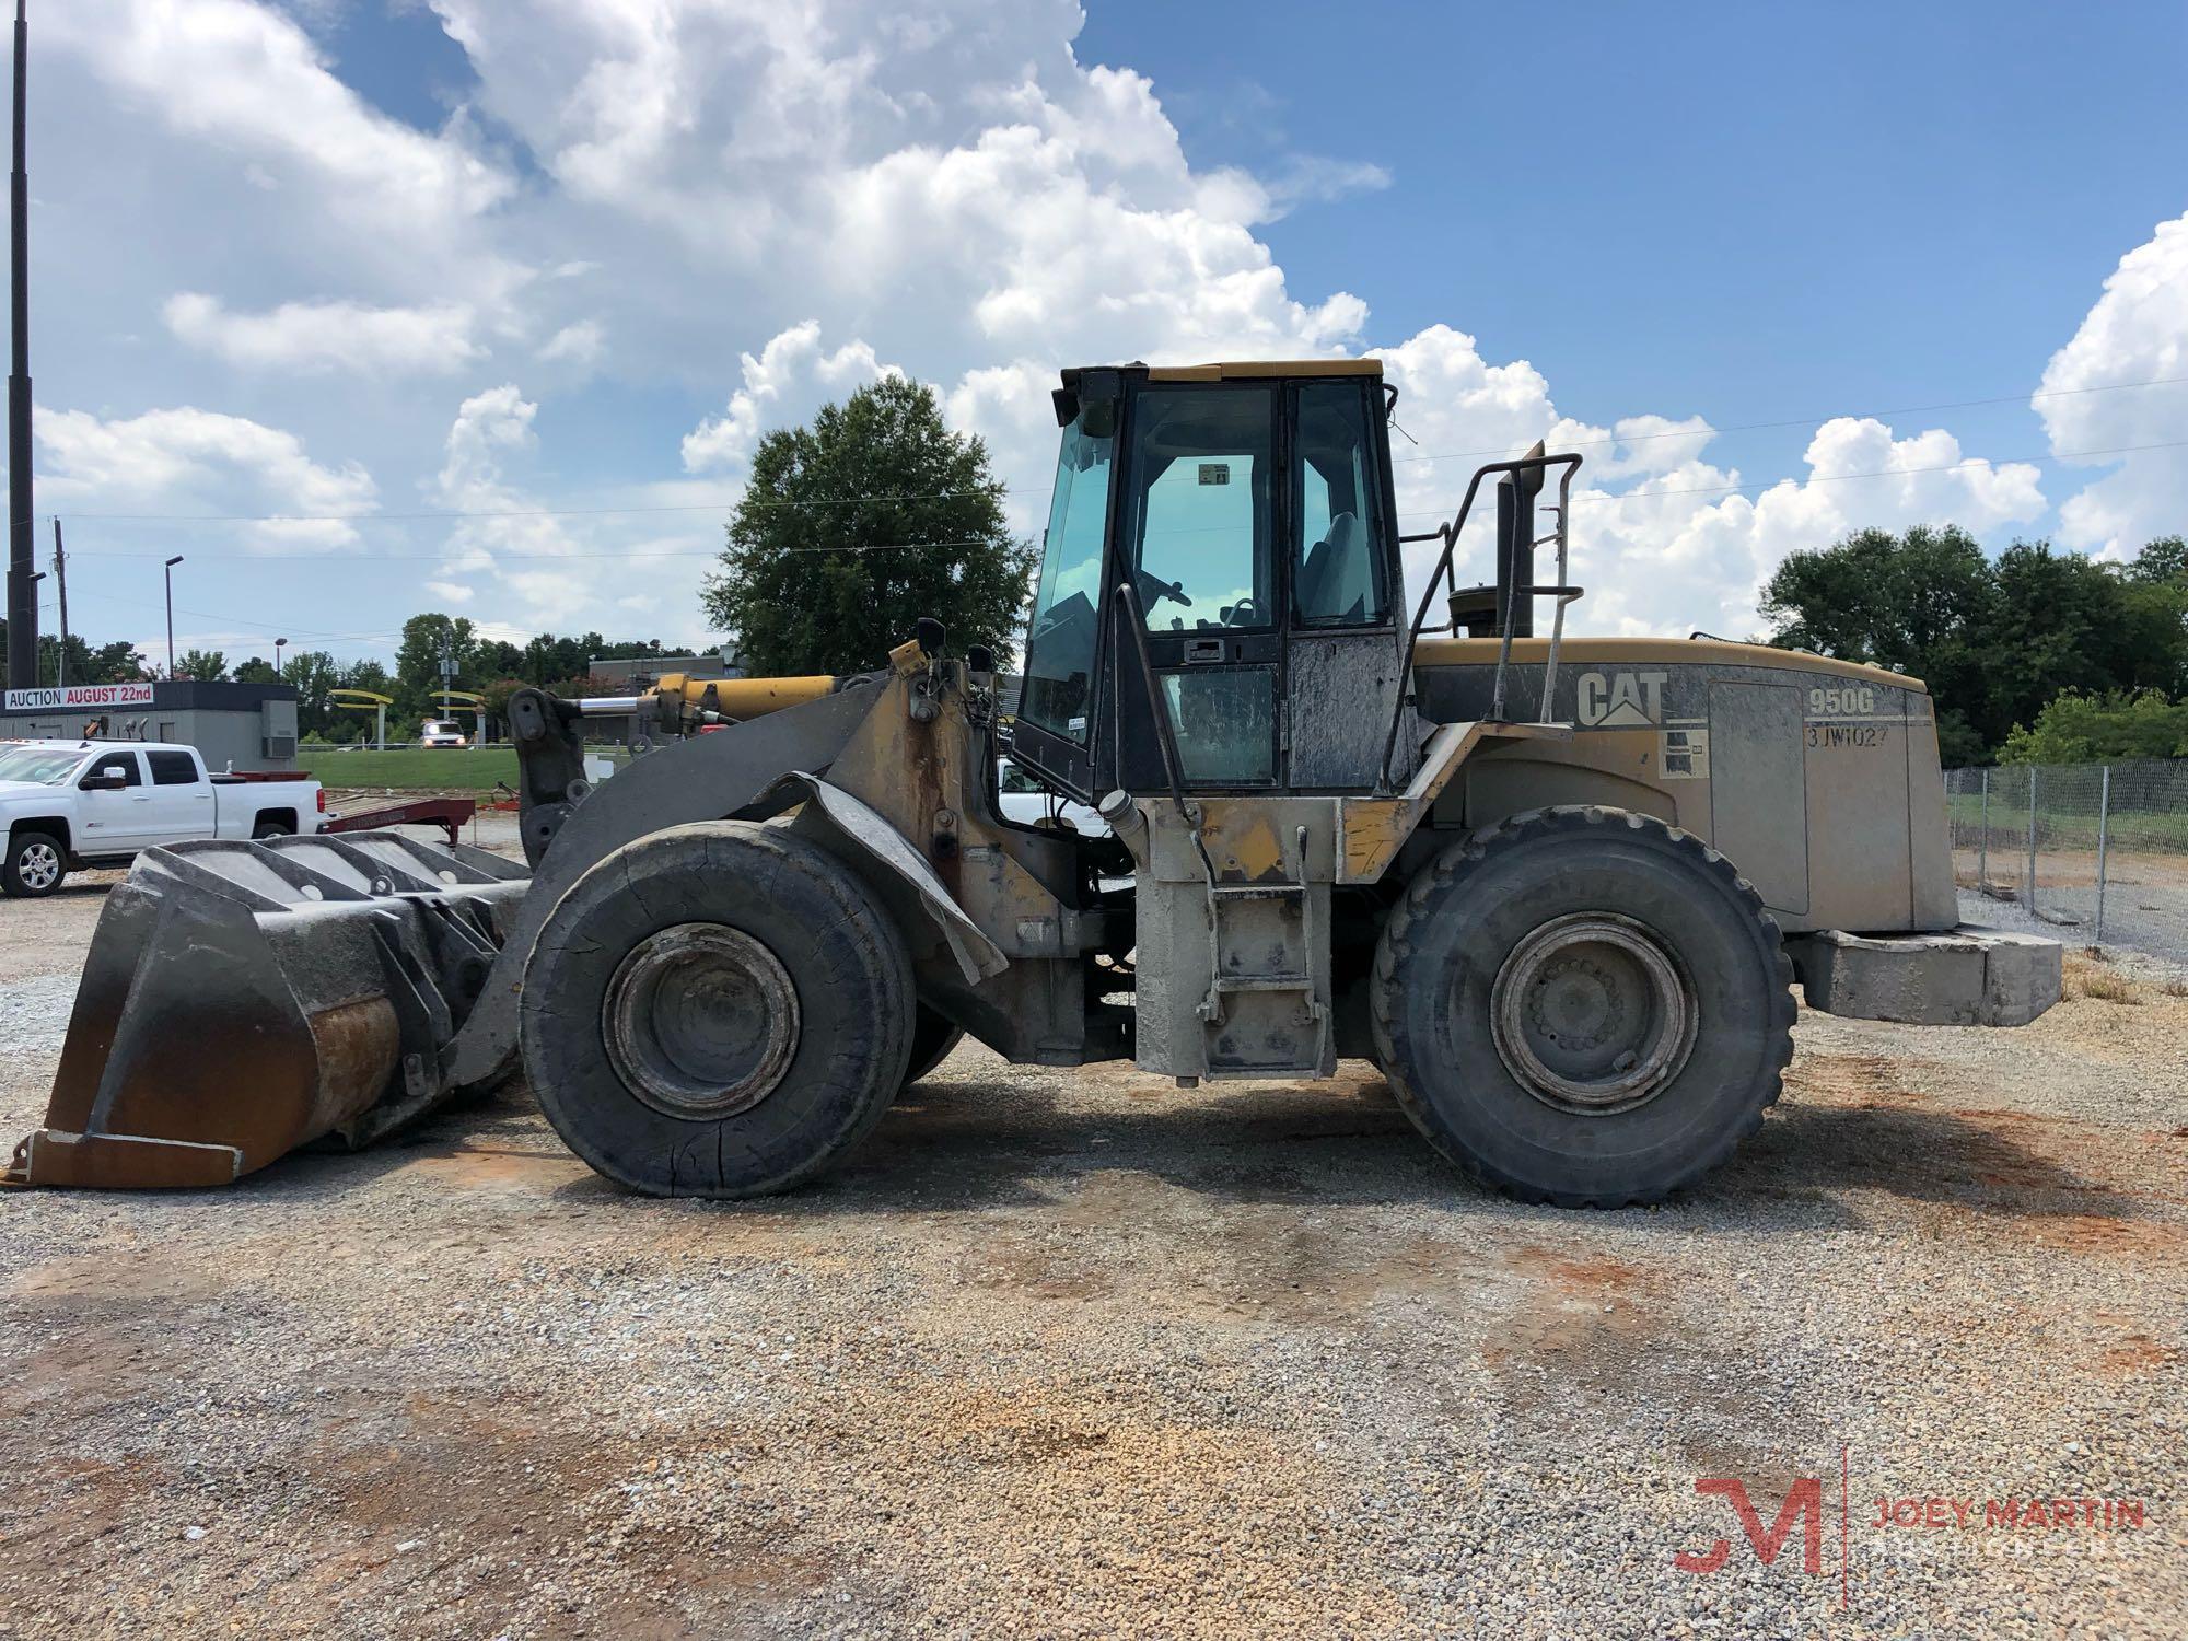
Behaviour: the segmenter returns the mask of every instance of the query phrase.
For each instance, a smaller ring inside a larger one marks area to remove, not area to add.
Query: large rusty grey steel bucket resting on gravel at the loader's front
[[[527,886],[394,831],[144,851],[98,915],[46,1127],[7,1179],[219,1186],[387,1133],[451,1092],[442,1052]]]

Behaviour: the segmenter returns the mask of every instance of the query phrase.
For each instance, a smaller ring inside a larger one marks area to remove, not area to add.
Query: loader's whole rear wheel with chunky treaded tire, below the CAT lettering
[[[1523,1201],[1659,1201],[1764,1120],[1792,1059],[1777,921],[1700,838],[1626,810],[1453,845],[1376,947],[1376,1050],[1446,1157]]]

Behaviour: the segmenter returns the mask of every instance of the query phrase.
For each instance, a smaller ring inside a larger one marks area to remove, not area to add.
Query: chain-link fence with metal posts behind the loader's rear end
[[[1960,917],[2188,963],[2188,759],[1947,770]]]

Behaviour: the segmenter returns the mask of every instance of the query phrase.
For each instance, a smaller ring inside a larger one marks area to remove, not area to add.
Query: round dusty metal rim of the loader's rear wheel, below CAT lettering
[[[1630,1112],[1685,1068],[1694,985],[1654,930],[1575,912],[1527,934],[1497,971],[1490,1022],[1505,1070],[1545,1105]]]

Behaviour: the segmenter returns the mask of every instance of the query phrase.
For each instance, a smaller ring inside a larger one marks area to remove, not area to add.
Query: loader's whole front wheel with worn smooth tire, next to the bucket
[[[888,1109],[917,998],[895,923],[834,856],[709,821],[569,886],[525,967],[519,1041],[556,1133],[656,1197],[785,1190]]]

